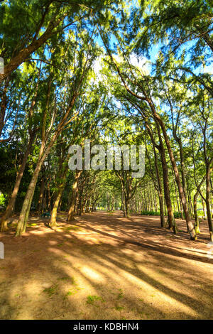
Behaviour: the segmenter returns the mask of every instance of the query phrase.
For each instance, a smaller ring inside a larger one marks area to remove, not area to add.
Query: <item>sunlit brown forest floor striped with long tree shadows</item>
[[[207,221],[196,242],[160,228],[159,217],[94,212],[58,227],[18,217],[0,233],[1,319],[213,319]]]

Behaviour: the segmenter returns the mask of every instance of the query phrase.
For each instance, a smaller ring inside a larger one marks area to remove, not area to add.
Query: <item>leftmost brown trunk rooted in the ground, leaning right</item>
[[[28,160],[28,155],[31,152],[31,147],[32,147],[34,138],[35,138],[35,136],[30,137],[26,152],[23,156],[23,161],[21,163],[21,166],[20,166],[20,168],[18,170],[18,173],[17,173],[17,176],[16,176],[16,182],[15,182],[15,185],[14,185],[14,188],[13,188],[13,192],[11,194],[11,198],[9,200],[9,203],[8,203],[7,207],[6,207],[6,211],[4,212],[3,217],[1,218],[1,226],[0,226],[0,231],[1,232],[4,232],[8,229],[8,227],[7,227],[8,219],[9,219],[9,217],[11,217],[11,215],[13,213],[13,210],[14,210],[14,207],[15,207],[15,204],[16,204],[18,189],[20,187],[21,179],[23,177],[23,172],[24,172],[25,167],[26,167],[26,162]]]

